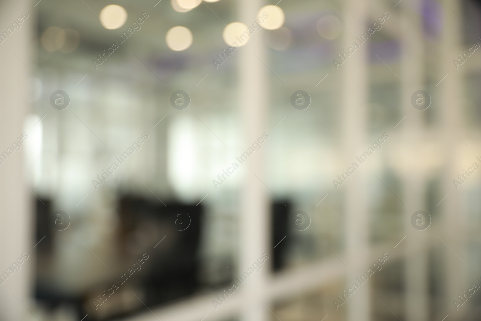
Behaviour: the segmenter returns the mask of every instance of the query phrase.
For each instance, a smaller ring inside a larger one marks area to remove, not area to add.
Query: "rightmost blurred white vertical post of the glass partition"
[[[462,27],[464,23],[460,20],[464,19],[461,11],[461,3],[456,0],[444,0],[445,4],[441,6],[443,9],[443,30],[441,38],[441,55],[440,55],[440,72],[439,79],[441,80],[447,73],[449,75],[437,86],[439,87],[439,95],[441,97],[439,117],[446,124],[444,125],[437,119],[438,127],[442,133],[444,142],[443,159],[445,161],[445,170],[443,171],[443,194],[449,193],[449,196],[441,203],[443,209],[443,230],[439,235],[443,242],[456,253],[456,255],[469,266],[468,256],[464,252],[466,245],[465,235],[465,212],[462,207],[462,193],[460,188],[454,188],[453,180],[459,174],[459,168],[456,166],[460,163],[459,157],[465,154],[468,147],[464,145],[457,136],[464,142],[468,143],[463,135],[462,128],[462,111],[465,104],[462,92],[463,70],[467,70],[469,65],[462,65],[456,70],[453,60],[457,58],[464,49],[462,47]],[[449,8],[447,7],[449,6]],[[451,10],[453,10],[457,17]],[[472,59],[472,58],[471,58]],[[466,67],[466,68],[465,68]],[[451,132],[450,128],[453,132]],[[469,143],[468,143],[469,146]],[[470,148],[473,148],[470,146]],[[473,160],[474,162],[474,160]],[[437,239],[437,238],[436,238]],[[446,293],[445,303],[446,308],[453,310],[455,308],[453,300],[457,298],[466,288],[464,285],[469,285],[475,280],[468,280],[467,276],[472,273],[468,268],[457,258],[451,250],[449,250],[441,241],[438,245],[444,249],[445,257],[445,275],[446,278]],[[456,311],[456,309],[454,309]],[[465,313],[467,309],[459,309],[456,315],[460,316]],[[462,318],[462,316],[460,316]]]

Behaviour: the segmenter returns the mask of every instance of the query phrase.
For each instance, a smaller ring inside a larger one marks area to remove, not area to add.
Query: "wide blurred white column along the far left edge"
[[[29,90],[27,77],[33,77],[24,64],[34,69],[31,62],[31,34],[35,20],[30,1],[0,2],[0,32],[7,31],[24,12],[28,13],[28,18],[21,28],[13,31],[0,44],[0,153],[7,151],[23,132],[23,121],[29,107],[26,103]],[[6,272],[22,253],[29,255],[21,270],[13,272],[6,282],[0,284],[0,319],[9,321],[33,317],[27,315],[30,312],[21,303],[29,305],[32,290],[30,273],[34,250],[31,235],[35,200],[35,196],[20,181],[26,182],[22,154],[23,149],[15,151],[0,165],[0,273]]]

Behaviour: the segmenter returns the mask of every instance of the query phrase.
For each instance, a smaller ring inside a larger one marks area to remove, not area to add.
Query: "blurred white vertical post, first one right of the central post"
[[[346,148],[346,161],[355,160],[367,146],[367,53],[368,43],[359,43],[356,36],[367,31],[367,1],[347,0],[344,7],[343,20],[349,27],[344,27],[342,49],[347,50],[355,41],[360,45],[354,54],[346,60],[337,72],[343,73],[342,104],[343,132]],[[367,40],[371,41],[371,40]],[[344,146],[342,146],[344,148]],[[349,266],[346,274],[346,286],[356,282],[356,277],[362,275],[369,256],[368,234],[369,218],[367,212],[367,167],[360,168],[346,182],[344,204],[346,215],[346,245]],[[356,282],[359,283],[359,282]],[[347,302],[347,320],[369,321],[370,318],[370,283],[360,285],[360,289]]]

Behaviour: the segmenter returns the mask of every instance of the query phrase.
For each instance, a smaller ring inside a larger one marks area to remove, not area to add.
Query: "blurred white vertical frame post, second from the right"
[[[424,83],[424,41],[421,21],[421,3],[417,0],[407,0],[399,3],[401,6],[401,79],[402,86],[402,115],[406,116],[398,128],[402,146],[415,146],[425,141],[424,116],[427,111],[415,109],[411,105],[411,96],[417,90],[428,90]],[[429,90],[428,90],[429,91]],[[434,92],[429,92],[431,98]],[[429,108],[435,108],[431,105]],[[411,153],[410,151],[406,151]],[[405,222],[405,244],[400,244],[398,251],[405,252],[405,316],[408,321],[426,321],[429,319],[429,233],[430,230],[418,231],[411,226],[411,216],[418,210],[426,211],[425,202],[425,166],[423,164],[409,164],[401,175],[403,177],[403,201]],[[432,215],[432,213],[429,213]]]

